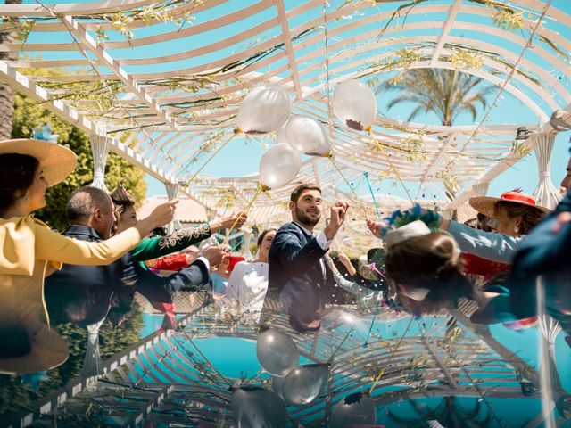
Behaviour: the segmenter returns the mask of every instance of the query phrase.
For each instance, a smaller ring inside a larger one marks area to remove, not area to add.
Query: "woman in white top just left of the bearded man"
[[[247,313],[247,319],[258,321],[268,292],[268,254],[276,229],[266,229],[258,237],[258,257],[252,262],[236,264],[225,292],[229,309]]]

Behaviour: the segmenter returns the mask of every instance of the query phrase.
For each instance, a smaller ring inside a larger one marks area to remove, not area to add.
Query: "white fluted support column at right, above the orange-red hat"
[[[539,185],[537,185],[534,191],[534,197],[539,205],[553,210],[559,201],[561,201],[561,194],[559,194],[553,183],[551,183],[550,172],[551,152],[553,152],[555,133],[535,134],[532,137],[535,140],[534,150],[539,167]]]

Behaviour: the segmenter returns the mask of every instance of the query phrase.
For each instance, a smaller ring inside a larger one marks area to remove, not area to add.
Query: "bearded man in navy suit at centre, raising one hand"
[[[299,332],[319,329],[321,312],[335,287],[324,256],[349,204],[335,202],[327,227],[316,236],[313,227],[321,218],[322,203],[317,185],[298,185],[289,202],[293,221],[279,228],[269,249],[269,299],[278,296],[290,325]]]

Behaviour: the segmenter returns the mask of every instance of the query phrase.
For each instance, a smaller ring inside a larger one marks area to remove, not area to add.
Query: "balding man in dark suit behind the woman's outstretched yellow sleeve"
[[[111,197],[90,186],[71,193],[67,216],[70,227],[63,235],[80,241],[108,239],[115,221]],[[178,290],[203,289],[211,279],[211,264],[218,264],[222,255],[221,248],[210,247],[188,268],[169,277],[145,270],[130,251],[108,266],[66,264],[46,278],[47,308],[75,324],[89,325],[107,316],[112,307],[109,314],[119,322],[130,310],[135,292],[150,301],[170,303]]]

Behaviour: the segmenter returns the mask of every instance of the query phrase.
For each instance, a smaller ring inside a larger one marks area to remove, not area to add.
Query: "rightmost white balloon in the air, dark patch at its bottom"
[[[377,116],[377,98],[359,80],[345,80],[335,88],[333,111],[347,127],[368,130]]]

